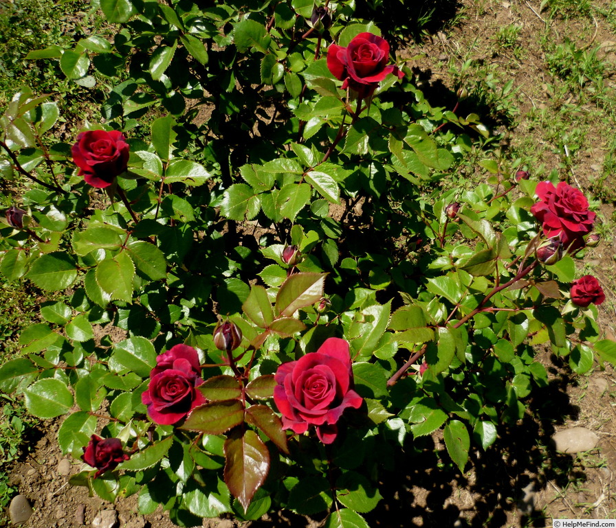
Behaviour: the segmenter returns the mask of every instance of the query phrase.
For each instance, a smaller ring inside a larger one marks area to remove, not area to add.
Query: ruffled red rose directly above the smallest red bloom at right
[[[584,247],[584,236],[593,229],[596,216],[588,211],[584,194],[564,181],[557,187],[542,181],[535,192],[541,201],[531,207],[531,213],[541,222],[544,235],[560,236],[565,249]]]

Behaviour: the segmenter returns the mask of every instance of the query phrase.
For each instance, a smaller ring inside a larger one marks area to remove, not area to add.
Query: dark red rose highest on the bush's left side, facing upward
[[[79,175],[92,187],[109,187],[115,176],[126,170],[129,144],[117,130],[88,130],[77,136],[72,148]]]

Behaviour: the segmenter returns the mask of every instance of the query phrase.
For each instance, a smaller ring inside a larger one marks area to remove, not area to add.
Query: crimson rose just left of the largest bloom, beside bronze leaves
[[[175,345],[160,354],[156,363],[141,401],[156,424],[177,424],[196,406],[207,402],[197,389],[203,383],[199,356],[192,347]]]

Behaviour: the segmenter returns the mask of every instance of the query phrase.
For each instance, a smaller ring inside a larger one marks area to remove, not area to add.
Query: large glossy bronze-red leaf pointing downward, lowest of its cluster
[[[234,431],[225,441],[225,483],[244,508],[270,472],[270,452],[254,431]]]

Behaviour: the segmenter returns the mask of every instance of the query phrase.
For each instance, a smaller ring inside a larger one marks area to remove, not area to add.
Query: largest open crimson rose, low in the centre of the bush
[[[336,422],[344,409],[358,409],[364,401],[353,390],[349,343],[337,337],[278,367],[275,380],[274,402],[283,415],[283,429],[300,435],[314,425],[323,444],[336,439]]]

